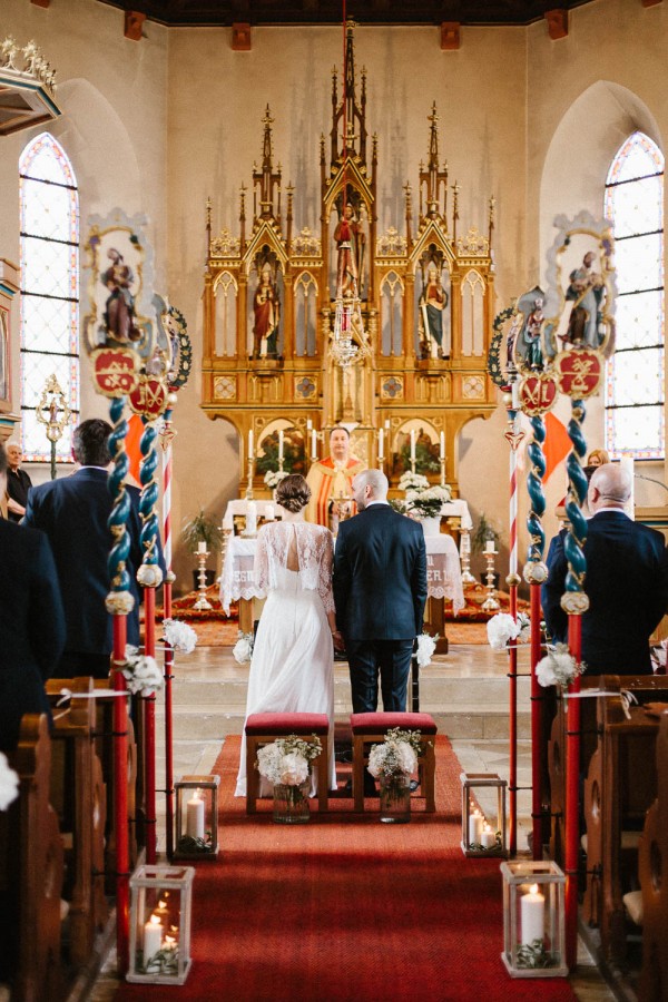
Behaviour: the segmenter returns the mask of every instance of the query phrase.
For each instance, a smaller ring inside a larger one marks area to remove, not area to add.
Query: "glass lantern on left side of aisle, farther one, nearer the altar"
[[[215,859],[218,855],[219,776],[181,776],[176,792],[175,859]]]

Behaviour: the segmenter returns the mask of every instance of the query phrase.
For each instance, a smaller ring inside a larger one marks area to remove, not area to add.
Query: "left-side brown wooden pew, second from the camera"
[[[58,680],[61,682],[62,680]],[[96,753],[96,700],[91,678],[73,678],[66,687],[75,694],[57,706],[60,688],[49,698],[53,715],[51,803],[58,814],[66,854],[63,897],[69,902],[69,960],[85,965],[96,933],[108,916],[105,897],[105,824],[107,814],[102,766]]]

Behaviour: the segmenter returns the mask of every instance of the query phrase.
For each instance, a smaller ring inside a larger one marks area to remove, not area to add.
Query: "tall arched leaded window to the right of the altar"
[[[664,155],[633,132],[612,160],[606,217],[615,233],[617,341],[606,380],[606,448],[612,458],[662,459]]]

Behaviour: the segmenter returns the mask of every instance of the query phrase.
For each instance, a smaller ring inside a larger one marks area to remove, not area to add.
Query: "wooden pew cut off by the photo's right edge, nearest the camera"
[[[647,813],[638,867],[642,891],[639,1002],[668,998],[668,711],[657,736],[658,796]]]

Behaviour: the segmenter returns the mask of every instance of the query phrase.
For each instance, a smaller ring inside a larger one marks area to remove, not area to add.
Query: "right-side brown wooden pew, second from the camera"
[[[598,925],[605,960],[626,957],[623,895],[635,884],[638,845],[657,789],[655,746],[658,720],[642,707],[630,719],[616,699],[598,704],[598,746],[584,780],[587,888],[583,917]]]

